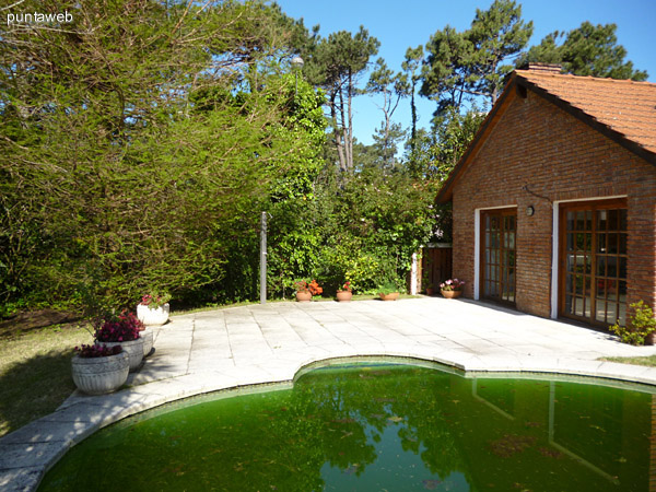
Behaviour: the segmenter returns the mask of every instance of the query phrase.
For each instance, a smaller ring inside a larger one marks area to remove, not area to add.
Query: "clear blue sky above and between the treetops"
[[[393,70],[399,71],[408,47],[425,46],[431,35],[447,24],[458,31],[467,30],[476,9],[487,10],[492,1],[278,0],[278,3],[288,15],[303,17],[308,28],[319,24],[323,36],[342,30],[355,33],[364,25],[380,42],[377,57],[385,58]],[[618,43],[626,49],[626,59],[633,61],[635,68],[646,70],[648,81],[656,82],[654,0],[526,0],[518,3],[522,3],[523,19],[534,21],[529,45],[539,44],[553,31],[578,27],[584,21],[617,24]],[[359,96],[354,105],[353,132],[359,141],[367,144],[372,143],[371,136],[383,119],[375,103],[371,96]],[[435,104],[423,97],[418,103],[419,125],[429,127]],[[410,125],[409,99],[400,103],[394,119],[405,128]]]

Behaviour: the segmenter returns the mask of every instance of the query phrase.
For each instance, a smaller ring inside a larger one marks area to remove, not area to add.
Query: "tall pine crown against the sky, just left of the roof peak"
[[[437,31],[426,44],[421,95],[437,102],[437,114],[460,109],[475,96],[494,104],[504,77],[513,70],[507,61],[518,56],[532,34],[532,22],[522,20],[522,5],[495,0],[490,9],[477,9],[468,31],[450,26]]]

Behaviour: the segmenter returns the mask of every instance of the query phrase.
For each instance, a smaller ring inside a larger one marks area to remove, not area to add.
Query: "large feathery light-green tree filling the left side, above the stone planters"
[[[235,245],[253,256],[259,212],[306,194],[321,165],[323,99],[292,96],[280,12],[232,1],[21,8],[68,9],[73,22],[2,27],[3,301],[74,304],[79,283],[117,307],[152,288],[191,302],[247,296],[255,276],[231,261]],[[304,98],[314,112],[297,110]]]

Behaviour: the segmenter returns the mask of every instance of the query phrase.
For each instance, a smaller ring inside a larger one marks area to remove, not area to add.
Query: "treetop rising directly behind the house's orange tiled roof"
[[[646,71],[636,70],[633,62],[624,61],[626,50],[618,45],[616,30],[616,24],[595,26],[586,21],[569,33],[555,31],[532,46],[517,65],[531,61],[560,63],[565,72],[575,75],[646,80]]]

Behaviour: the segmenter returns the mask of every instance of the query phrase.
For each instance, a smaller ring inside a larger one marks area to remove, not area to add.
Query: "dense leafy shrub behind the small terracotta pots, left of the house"
[[[405,286],[412,254],[432,234],[435,189],[401,168],[367,166],[340,175],[327,168],[320,202],[324,243],[319,265],[333,285],[351,281],[360,293],[375,293],[386,280]]]

